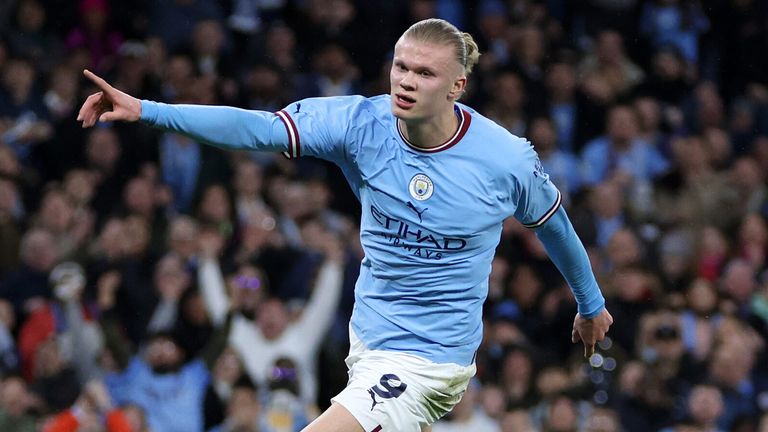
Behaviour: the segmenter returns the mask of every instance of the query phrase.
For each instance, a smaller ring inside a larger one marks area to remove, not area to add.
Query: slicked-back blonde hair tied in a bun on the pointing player
[[[419,21],[410,26],[401,39],[452,45],[456,51],[456,60],[464,66],[464,74],[467,76],[480,59],[480,50],[472,35],[460,31],[443,19],[429,18]]]

